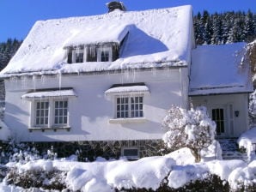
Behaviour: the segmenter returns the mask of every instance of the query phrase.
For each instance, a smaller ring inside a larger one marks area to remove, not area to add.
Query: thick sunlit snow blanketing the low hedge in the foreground
[[[53,169],[66,171],[64,183],[74,191],[114,191],[122,188],[155,190],[165,178],[169,187],[178,189],[191,181],[203,180],[210,174],[216,174],[223,181],[228,181],[232,189],[239,189],[242,184],[256,183],[256,160],[247,163],[238,159],[209,161],[204,159],[204,162],[195,164],[194,157],[188,148],[182,148],[165,156],[143,158],[137,161],[102,158],[94,162],[77,162],[74,158],[38,159],[28,161],[26,164],[9,162],[6,166],[16,167],[19,173]],[[7,185],[4,178],[0,183],[0,191],[27,191],[27,189]],[[35,190],[31,189],[31,191]],[[44,190],[39,189],[39,191]]]

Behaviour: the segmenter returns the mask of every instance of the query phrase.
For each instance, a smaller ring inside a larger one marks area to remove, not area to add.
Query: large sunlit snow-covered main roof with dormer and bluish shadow
[[[119,42],[127,31],[116,61],[67,63],[65,46]],[[193,43],[190,5],[37,21],[0,77],[186,66]]]

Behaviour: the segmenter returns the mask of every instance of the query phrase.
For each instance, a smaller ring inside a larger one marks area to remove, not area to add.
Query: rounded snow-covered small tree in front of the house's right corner
[[[162,139],[168,148],[188,147],[197,162],[201,159],[200,151],[210,146],[216,133],[216,123],[208,117],[205,107],[186,111],[172,106],[163,119],[162,128],[167,131]]]

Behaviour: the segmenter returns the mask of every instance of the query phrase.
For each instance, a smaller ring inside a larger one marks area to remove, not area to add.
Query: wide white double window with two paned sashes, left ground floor
[[[68,126],[67,99],[34,101],[34,109],[34,123],[31,127],[60,128]]]

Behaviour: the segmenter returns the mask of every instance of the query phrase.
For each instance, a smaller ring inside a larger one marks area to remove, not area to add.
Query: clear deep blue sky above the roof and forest
[[[25,39],[38,20],[107,13],[107,0],[0,0],[0,42]],[[232,10],[256,13],[256,0],[122,0],[127,10],[158,9],[191,4],[194,14]]]

